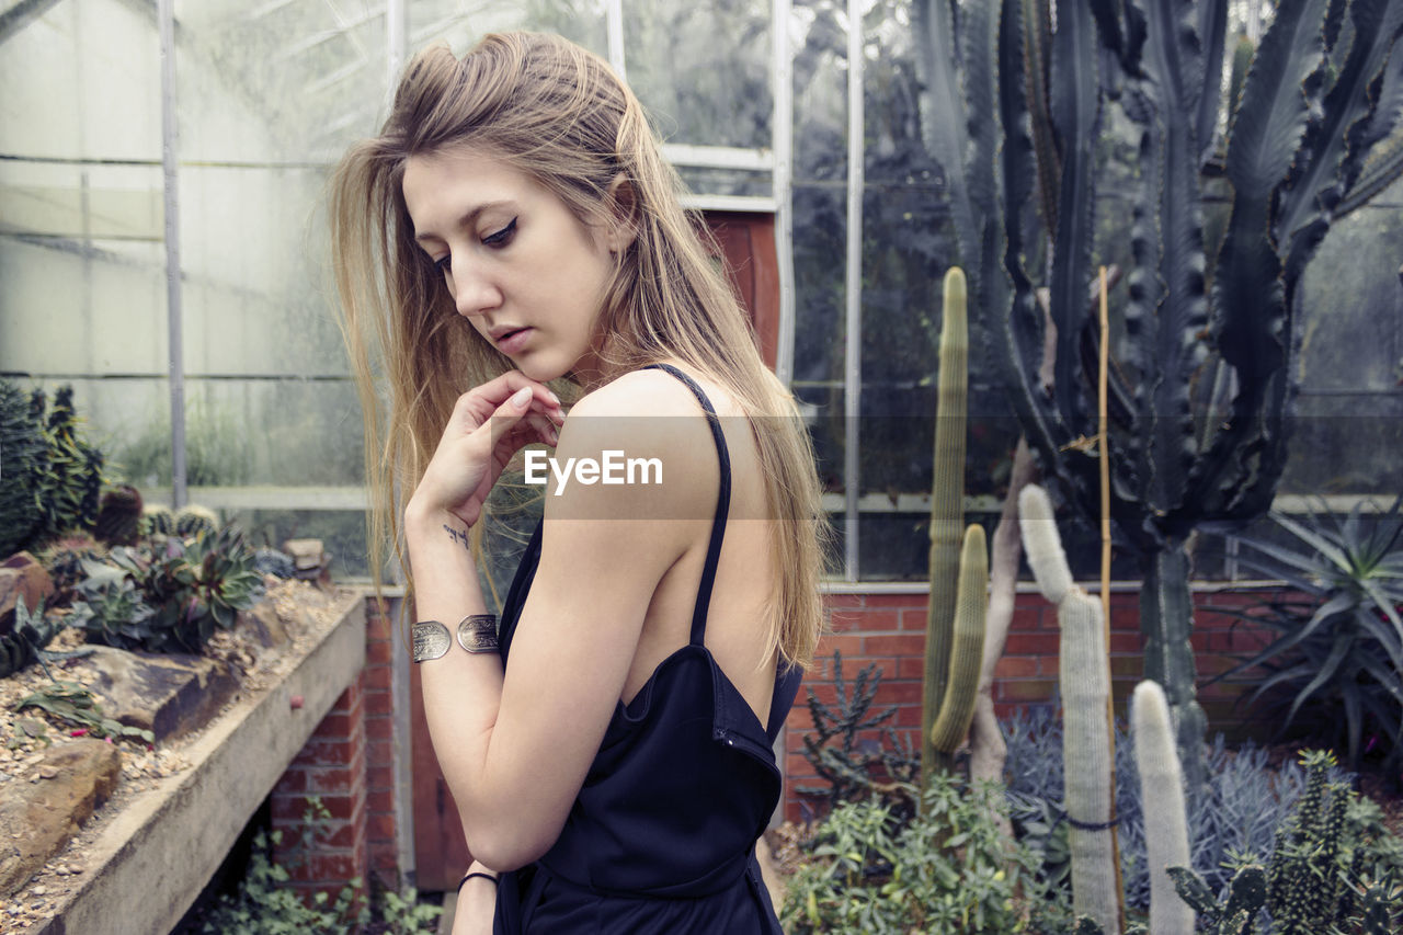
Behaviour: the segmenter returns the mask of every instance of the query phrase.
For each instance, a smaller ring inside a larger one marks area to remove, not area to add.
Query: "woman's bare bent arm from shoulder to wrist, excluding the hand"
[[[421,665],[434,750],[469,849],[494,869],[528,863],[558,837],[623,692],[658,583],[687,548],[704,548],[716,459],[699,456],[710,455],[709,430],[676,390],[686,393],[665,375],[630,375],[572,411],[557,463],[622,451],[657,459],[666,483],[572,480],[556,493],[550,480],[540,566],[505,677],[495,654],[456,646]],[[641,413],[690,418],[636,418]],[[456,508],[439,493],[477,487],[446,483],[449,473],[431,465],[431,484],[405,511],[405,538],[418,619],[452,630],[484,612],[484,601],[464,545],[462,515],[471,507]]]

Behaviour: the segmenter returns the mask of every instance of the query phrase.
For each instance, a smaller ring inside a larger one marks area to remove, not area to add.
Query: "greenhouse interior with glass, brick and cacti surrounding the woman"
[[[422,546],[368,515],[434,451],[368,434],[330,205],[419,51],[516,31],[637,95],[812,453],[783,931],[1397,931],[1403,0],[4,0],[0,928],[450,931]]]

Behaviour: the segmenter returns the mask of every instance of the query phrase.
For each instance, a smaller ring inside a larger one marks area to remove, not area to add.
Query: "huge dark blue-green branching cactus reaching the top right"
[[[1117,535],[1145,576],[1145,672],[1164,687],[1198,788],[1205,719],[1186,543],[1205,524],[1260,517],[1275,494],[1299,386],[1306,265],[1331,223],[1403,173],[1403,0],[1281,0],[1236,107],[1219,80],[1228,0],[1055,1],[1056,29],[1054,0],[915,0],[922,131],[946,175],[995,378],[1044,476],[1094,519],[1100,465],[1073,442],[1097,431],[1087,406],[1096,372],[1083,361],[1099,343],[1086,303],[1104,211],[1099,142],[1113,107],[1141,128],[1117,344],[1125,366],[1115,368],[1103,451]],[[1041,232],[1028,229],[1034,211]],[[1205,227],[1221,227],[1221,243]],[[1044,236],[1051,263],[1040,270]],[[1038,378],[1040,288],[1056,331],[1051,394]],[[1205,362],[1230,373],[1200,380]],[[1226,400],[1194,392],[1214,385]]]

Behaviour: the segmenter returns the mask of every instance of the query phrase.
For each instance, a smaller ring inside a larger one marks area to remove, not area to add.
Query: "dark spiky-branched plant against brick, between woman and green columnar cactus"
[[[866,799],[875,790],[904,810],[912,807],[913,799],[908,792],[915,788],[920,758],[912,745],[887,724],[897,713],[895,706],[873,712],[878,685],[881,685],[881,668],[870,663],[859,670],[849,689],[843,679],[843,654],[835,651],[833,689],[838,695],[835,703],[825,705],[818,701],[812,688],[807,689],[814,733],[804,736],[804,758],[829,785],[828,789],[801,788],[800,795],[824,796],[829,807],[838,807],[843,802]],[[878,729],[882,729],[882,733],[878,734]],[[867,734],[867,738],[863,738],[863,734]],[[873,736],[882,737],[885,743],[874,740]]]

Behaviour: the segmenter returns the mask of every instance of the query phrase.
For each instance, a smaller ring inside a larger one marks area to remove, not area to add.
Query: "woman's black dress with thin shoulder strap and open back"
[[[781,935],[755,841],[779,802],[772,745],[801,671],[776,672],[769,724],[760,724],[702,643],[731,503],[731,460],[702,387],[673,366],[654,366],[696,394],[721,462],[690,643],[659,663],[629,705],[619,702],[550,851],[501,875],[497,935]],[[540,533],[537,525],[502,606],[504,664],[540,562]]]

